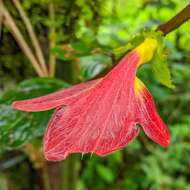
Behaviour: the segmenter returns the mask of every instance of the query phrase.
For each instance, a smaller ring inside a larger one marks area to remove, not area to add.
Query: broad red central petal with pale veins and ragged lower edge
[[[135,126],[134,80],[139,57],[125,57],[102,81],[53,116],[44,137],[48,160],[74,152],[105,155],[131,142]]]

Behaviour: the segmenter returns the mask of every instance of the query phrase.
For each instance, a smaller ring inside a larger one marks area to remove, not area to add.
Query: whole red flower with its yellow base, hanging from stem
[[[146,39],[104,78],[13,103],[15,109],[31,112],[56,108],[44,136],[46,159],[62,160],[77,152],[109,154],[139,134],[137,124],[156,143],[169,144],[169,131],[153,98],[136,77],[138,66],[152,58],[156,46],[156,40]]]

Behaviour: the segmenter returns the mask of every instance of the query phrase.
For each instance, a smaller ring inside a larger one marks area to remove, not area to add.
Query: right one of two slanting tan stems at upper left
[[[19,0],[13,0],[13,3],[15,5],[15,7],[17,8],[17,10],[18,10],[18,12],[19,12],[19,14],[20,14],[20,16],[21,16],[21,18],[23,20],[23,23],[26,26],[26,29],[27,29],[28,34],[30,36],[31,42],[32,42],[32,44],[34,46],[34,49],[35,49],[35,52],[36,52],[36,57],[38,58],[39,64],[41,65],[44,73],[46,75],[48,75],[47,67],[46,67],[46,64],[45,64],[45,58],[43,56],[42,49],[40,47],[39,41],[38,41],[37,36],[36,36],[36,34],[34,32],[34,29],[32,27],[30,19],[28,18],[26,12],[22,8],[22,5],[21,5]]]

